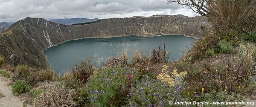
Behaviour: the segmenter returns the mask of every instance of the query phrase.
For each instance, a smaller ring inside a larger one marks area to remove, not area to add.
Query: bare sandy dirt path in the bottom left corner
[[[5,84],[10,81],[9,78],[0,75],[0,93],[4,95],[0,97],[0,107],[23,107],[23,101],[20,101],[18,97],[12,94],[12,87],[5,86]]]

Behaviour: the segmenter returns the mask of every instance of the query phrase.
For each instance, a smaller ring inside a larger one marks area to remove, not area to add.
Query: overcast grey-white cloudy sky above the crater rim
[[[190,9],[167,0],[0,0],[0,22],[25,17],[112,18],[183,14],[193,17]]]

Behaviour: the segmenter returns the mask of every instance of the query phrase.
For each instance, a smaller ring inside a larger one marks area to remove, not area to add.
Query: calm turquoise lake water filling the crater
[[[65,43],[53,46],[44,51],[47,61],[57,74],[69,72],[78,61],[93,57],[93,64],[96,60],[103,58],[105,62],[111,56],[119,56],[123,49],[127,50],[129,61],[133,52],[141,50],[145,55],[150,56],[150,51],[157,49],[159,45],[171,52],[169,62],[181,58],[181,53],[186,53],[190,49],[195,38],[174,35],[162,35],[154,37],[125,36],[113,38],[85,38],[70,40]]]

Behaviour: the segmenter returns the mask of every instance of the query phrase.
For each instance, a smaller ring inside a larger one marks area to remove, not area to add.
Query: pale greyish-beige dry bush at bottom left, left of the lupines
[[[58,83],[47,83],[47,89],[33,101],[35,107],[74,107],[76,90],[66,88]]]

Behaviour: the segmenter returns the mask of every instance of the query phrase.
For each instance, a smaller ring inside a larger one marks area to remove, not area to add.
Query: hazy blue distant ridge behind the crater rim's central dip
[[[92,22],[92,21],[97,21],[100,20],[98,18],[95,19],[87,19],[87,18],[70,18],[70,19],[54,19],[54,20],[49,20],[55,23],[61,23],[64,25],[72,25],[76,23],[86,23],[86,22]]]

